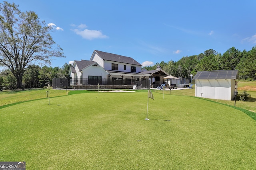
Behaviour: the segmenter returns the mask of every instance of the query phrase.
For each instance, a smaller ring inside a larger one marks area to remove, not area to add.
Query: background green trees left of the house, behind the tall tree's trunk
[[[51,66],[29,65],[22,78],[23,88],[43,88],[52,84],[53,78],[69,78],[68,72],[71,64],[65,63],[61,68]],[[9,69],[0,72],[0,89],[12,90],[17,88],[17,80]]]

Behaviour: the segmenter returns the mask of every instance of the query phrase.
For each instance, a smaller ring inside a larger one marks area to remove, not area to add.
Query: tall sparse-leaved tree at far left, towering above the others
[[[40,21],[35,12],[20,12],[6,1],[0,4],[0,63],[9,68],[22,88],[29,63],[50,64],[52,57],[64,57],[50,35],[52,28]]]

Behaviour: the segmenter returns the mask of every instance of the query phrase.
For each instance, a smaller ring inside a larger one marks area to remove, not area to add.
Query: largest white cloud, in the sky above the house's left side
[[[72,24],[72,26],[74,26],[74,24]],[[103,35],[101,31],[98,30],[90,30],[90,29],[84,29],[87,27],[87,25],[85,24],[80,24],[78,26],[76,26],[76,29],[71,29],[72,31],[74,31],[77,35],[82,36],[84,39],[96,39],[96,38],[108,38],[107,35]]]

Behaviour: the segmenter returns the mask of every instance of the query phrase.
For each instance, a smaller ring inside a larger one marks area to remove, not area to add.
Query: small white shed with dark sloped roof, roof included
[[[200,71],[194,76],[195,96],[219,100],[232,100],[238,70]]]

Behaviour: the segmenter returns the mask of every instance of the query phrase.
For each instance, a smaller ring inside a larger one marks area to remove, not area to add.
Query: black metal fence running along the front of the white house
[[[130,79],[108,79],[103,78],[101,80],[92,80],[88,78],[53,78],[53,89],[59,88],[73,88],[73,89],[132,89],[136,88],[149,88],[150,81],[147,79],[142,80],[130,80]]]

